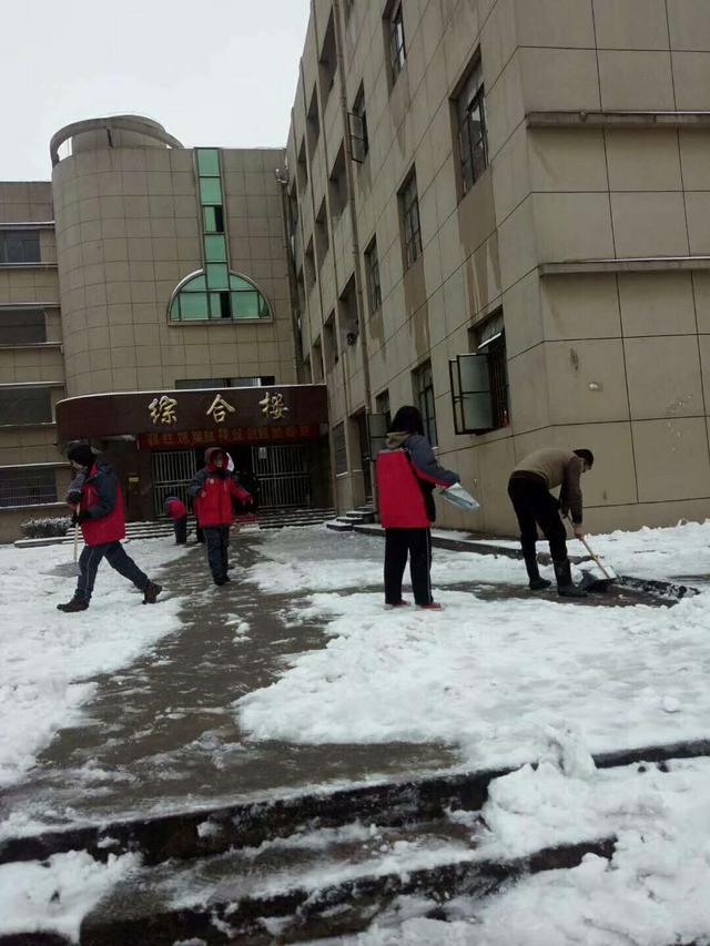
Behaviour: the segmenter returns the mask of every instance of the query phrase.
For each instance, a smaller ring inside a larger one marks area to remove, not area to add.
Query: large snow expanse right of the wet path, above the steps
[[[707,736],[710,596],[674,608],[437,597],[438,613],[384,611],[381,593],[308,597],[327,645],[241,698],[242,726],[301,743],[440,741],[477,766],[539,757],[561,722],[595,752]]]

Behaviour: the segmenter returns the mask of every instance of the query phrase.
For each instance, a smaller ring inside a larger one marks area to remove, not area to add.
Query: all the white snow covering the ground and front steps
[[[577,606],[528,596],[519,561],[437,549],[433,578],[446,609],[384,611],[382,539],[314,527],[263,533],[258,548],[247,580],[291,596],[285,624],[321,624],[325,645],[288,658],[272,685],[235,701],[253,739],[433,740],[458,746],[465,765],[521,765],[491,783],[483,834],[469,815],[452,813],[470,827],[470,845],[402,842],[373,872],[618,837],[611,862],[588,855],[577,868],[510,884],[483,906],[449,902],[449,923],[426,918],[432,904],[409,898],[366,934],[335,942],[710,943],[710,760],[673,761],[668,772],[597,771],[590,756],[708,736],[710,592],[673,608]],[[595,548],[623,573],[707,574],[710,523],[616,532],[596,537]],[[159,581],[160,567],[185,555],[151,541],[128,549]],[[61,614],[55,604],[74,580],[57,567],[70,557],[67,546],[0,548],[0,786],[20,780],[79,718],[94,691],[87,681],[180,630],[179,598],[144,608],[105,564],[91,609]],[[240,620],[233,632],[257,637],[258,628]],[[133,855],[101,865],[84,852],[0,867],[0,934],[29,930],[30,917],[34,929],[75,937],[81,917],[136,867]],[[316,887],[351,875],[316,869],[298,879]]]

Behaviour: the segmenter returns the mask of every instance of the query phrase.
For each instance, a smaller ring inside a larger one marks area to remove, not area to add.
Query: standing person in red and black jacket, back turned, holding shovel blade
[[[395,414],[386,447],[377,456],[376,474],[379,521],[385,529],[385,608],[409,603],[402,598],[408,555],[415,603],[440,610],[443,606],[432,597],[433,492],[434,487],[446,489],[460,477],[437,464],[416,407],[400,407]]]

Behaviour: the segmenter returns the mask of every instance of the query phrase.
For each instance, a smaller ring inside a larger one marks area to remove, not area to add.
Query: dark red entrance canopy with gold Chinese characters
[[[92,394],[57,405],[62,441],[132,435],[150,447],[180,446],[186,431],[202,444],[312,439],[327,419],[325,385]]]

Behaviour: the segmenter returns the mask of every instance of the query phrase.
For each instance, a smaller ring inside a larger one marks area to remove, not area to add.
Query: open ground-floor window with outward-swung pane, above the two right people
[[[469,329],[470,354],[449,362],[454,428],[485,434],[510,423],[503,312]]]

